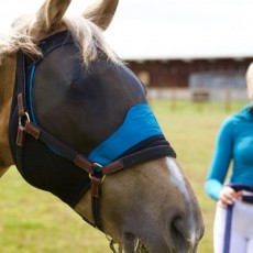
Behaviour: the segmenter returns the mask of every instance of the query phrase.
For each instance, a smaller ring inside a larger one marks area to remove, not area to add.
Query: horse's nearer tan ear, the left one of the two
[[[30,28],[30,35],[50,33],[56,28],[72,0],[46,0],[35,15],[35,21]]]

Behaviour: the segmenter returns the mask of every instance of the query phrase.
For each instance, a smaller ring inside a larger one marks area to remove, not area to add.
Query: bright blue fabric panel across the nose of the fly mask
[[[138,143],[163,134],[147,103],[130,108],[123,124],[105,142],[95,147],[88,160],[101,165],[114,161]]]

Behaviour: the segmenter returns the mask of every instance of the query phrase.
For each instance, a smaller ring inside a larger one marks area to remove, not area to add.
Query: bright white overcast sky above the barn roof
[[[8,0],[0,9],[0,31],[43,0]],[[73,0],[78,14],[92,0]],[[252,0],[120,0],[106,32],[124,59],[253,56]]]

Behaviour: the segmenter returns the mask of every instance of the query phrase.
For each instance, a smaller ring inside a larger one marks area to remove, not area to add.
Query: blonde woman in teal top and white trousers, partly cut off
[[[246,84],[252,100],[253,64],[246,72]],[[205,188],[218,201],[215,253],[253,253],[253,105],[223,121]]]

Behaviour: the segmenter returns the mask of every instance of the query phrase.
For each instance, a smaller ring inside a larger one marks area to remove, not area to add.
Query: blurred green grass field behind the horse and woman
[[[215,201],[204,190],[217,131],[226,116],[246,101],[223,102],[153,100],[151,106],[177,160],[189,178],[204,212],[206,233],[200,253],[212,253]],[[51,194],[28,185],[15,167],[0,180],[1,253],[110,253],[108,241]],[[157,252],[158,253],[158,252]]]

